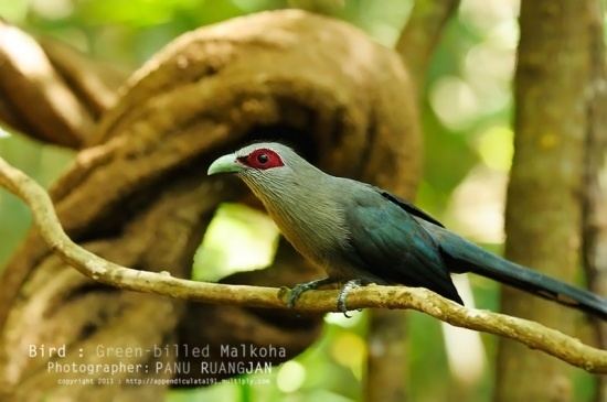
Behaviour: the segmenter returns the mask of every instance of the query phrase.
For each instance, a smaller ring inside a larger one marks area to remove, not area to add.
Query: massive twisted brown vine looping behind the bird
[[[267,12],[190,32],[139,69],[124,94],[95,134],[84,135],[89,148],[52,196],[72,238],[129,267],[189,276],[216,205],[251,202],[237,181],[205,176],[212,159],[245,141],[291,142],[333,174],[401,195],[418,176],[414,99],[397,55],[331,19]],[[318,275],[292,250],[279,256],[274,269],[233,280],[290,285]],[[24,343],[67,344],[64,362],[94,361],[78,348],[98,344],[147,348],[216,339],[279,341],[290,358],[321,323],[110,290],[58,261],[35,231],[6,269],[0,298],[0,390],[25,401],[163,395],[157,385],[60,387],[44,361],[13,352]]]

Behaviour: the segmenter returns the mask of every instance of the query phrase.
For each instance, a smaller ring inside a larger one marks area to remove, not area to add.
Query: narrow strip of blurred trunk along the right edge
[[[586,176],[584,181],[583,257],[588,286],[607,295],[607,64],[599,1],[590,2],[590,63],[586,106]],[[607,350],[607,323],[596,319],[599,347]],[[597,402],[607,401],[607,377],[598,378]]]

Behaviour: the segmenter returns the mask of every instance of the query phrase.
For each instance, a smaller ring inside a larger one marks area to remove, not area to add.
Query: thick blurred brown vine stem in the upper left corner
[[[0,21],[0,121],[13,129],[79,148],[121,82],[74,50]]]

